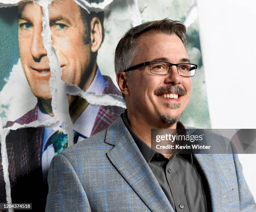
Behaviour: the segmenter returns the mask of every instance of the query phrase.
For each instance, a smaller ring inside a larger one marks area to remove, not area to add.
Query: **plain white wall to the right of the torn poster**
[[[256,128],[256,1],[197,0],[212,128]],[[239,155],[256,199],[256,155]]]

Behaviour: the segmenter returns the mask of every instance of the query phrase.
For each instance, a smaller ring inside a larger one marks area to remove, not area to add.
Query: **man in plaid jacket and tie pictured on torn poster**
[[[33,1],[18,5],[20,59],[26,79],[38,99],[36,107],[14,122],[40,123],[54,116],[51,108],[49,57],[42,37],[42,8]],[[97,51],[104,38],[103,12],[90,14],[74,0],[54,0],[49,5],[49,23],[54,49],[61,66],[61,79],[83,91],[97,95],[121,96],[110,77],[102,76],[97,66]],[[58,89],[58,88],[57,88]],[[74,123],[74,142],[107,128],[123,108],[90,105],[82,97],[67,95]],[[44,209],[46,177],[53,156],[67,147],[67,134],[50,127],[11,130],[6,137],[9,178],[13,203],[32,202],[34,209]],[[1,202],[5,202],[2,165]],[[39,195],[39,198],[38,198]],[[36,208],[38,206],[38,208]]]

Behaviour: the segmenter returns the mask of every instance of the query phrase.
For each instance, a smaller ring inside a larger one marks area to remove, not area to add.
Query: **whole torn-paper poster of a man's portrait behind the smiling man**
[[[210,128],[195,1],[54,0],[1,6],[1,202],[31,198],[44,205],[51,158],[108,128],[125,110],[115,79],[115,47],[128,29],[146,21],[169,18],[187,26],[187,53],[198,68],[182,123]],[[33,197],[33,183],[42,199]],[[19,199],[28,184],[28,196]]]

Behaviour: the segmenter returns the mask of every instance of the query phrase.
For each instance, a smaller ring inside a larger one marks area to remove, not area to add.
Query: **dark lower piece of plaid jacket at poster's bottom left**
[[[12,202],[33,202],[38,211],[44,208],[47,195],[42,178],[41,135],[44,135],[43,127],[10,130],[6,137]],[[2,168],[1,164],[0,201],[6,202]]]

